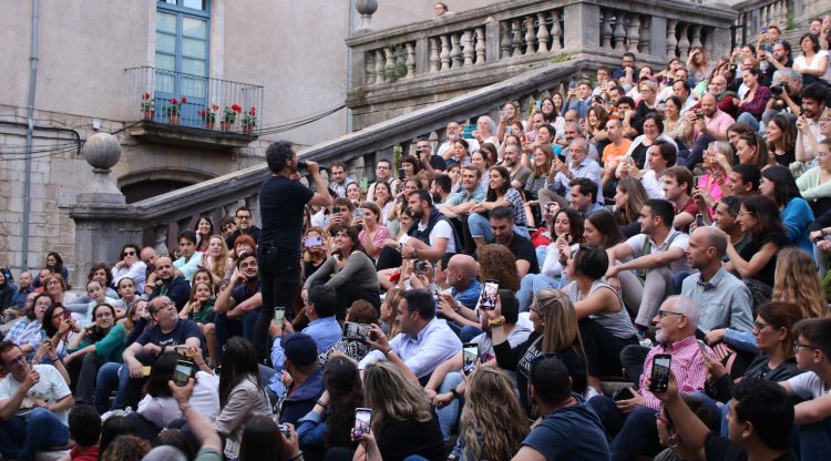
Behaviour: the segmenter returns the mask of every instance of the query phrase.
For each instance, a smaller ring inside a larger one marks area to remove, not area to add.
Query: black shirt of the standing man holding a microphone
[[[286,176],[271,176],[259,189],[259,214],[263,232],[259,245],[284,248],[300,255],[302,208],[315,195],[311,189]]]

